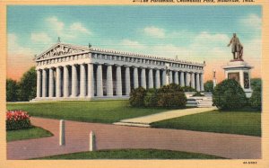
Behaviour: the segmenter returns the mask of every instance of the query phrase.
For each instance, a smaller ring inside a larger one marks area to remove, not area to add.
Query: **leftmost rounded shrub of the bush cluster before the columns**
[[[143,87],[138,87],[133,89],[130,93],[129,102],[131,106],[134,107],[142,107],[143,106],[143,98],[146,94],[146,90]]]

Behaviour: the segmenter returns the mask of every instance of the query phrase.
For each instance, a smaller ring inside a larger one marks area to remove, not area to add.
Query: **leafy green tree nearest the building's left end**
[[[19,83],[19,101],[30,101],[36,97],[37,91],[37,73],[35,67],[22,75]]]

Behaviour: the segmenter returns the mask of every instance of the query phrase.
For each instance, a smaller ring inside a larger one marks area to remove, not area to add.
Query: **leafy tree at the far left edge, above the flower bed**
[[[13,79],[6,80],[6,102],[16,102],[18,100],[18,84]]]

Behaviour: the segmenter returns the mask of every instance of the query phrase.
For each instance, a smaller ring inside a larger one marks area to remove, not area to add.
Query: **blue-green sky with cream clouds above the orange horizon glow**
[[[7,8],[9,57],[32,58],[62,42],[161,57],[229,61],[227,44],[237,32],[245,59],[261,58],[262,8],[251,6],[92,5]]]

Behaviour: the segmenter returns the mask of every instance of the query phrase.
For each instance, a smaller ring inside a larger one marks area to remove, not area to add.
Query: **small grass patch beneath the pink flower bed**
[[[48,130],[38,127],[6,131],[7,142],[22,139],[39,138],[39,137],[51,137],[51,136],[53,135]]]

